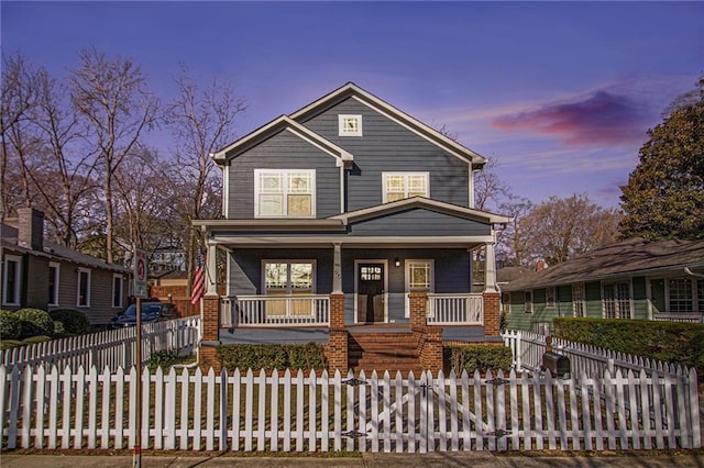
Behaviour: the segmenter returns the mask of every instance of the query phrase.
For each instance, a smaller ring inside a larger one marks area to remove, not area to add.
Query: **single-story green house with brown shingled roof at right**
[[[704,241],[630,238],[502,287],[506,326],[548,332],[560,316],[701,323]]]

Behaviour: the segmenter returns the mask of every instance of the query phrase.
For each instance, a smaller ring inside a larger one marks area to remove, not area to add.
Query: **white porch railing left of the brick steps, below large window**
[[[220,298],[221,323],[231,326],[328,326],[330,297],[238,296]]]

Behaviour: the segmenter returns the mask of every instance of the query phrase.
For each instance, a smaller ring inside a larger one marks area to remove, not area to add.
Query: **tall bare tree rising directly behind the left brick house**
[[[95,48],[79,54],[72,71],[72,100],[89,130],[87,141],[97,148],[106,211],[106,259],[113,260],[113,182],[124,158],[154,124],[158,101],[130,58],[108,58]]]

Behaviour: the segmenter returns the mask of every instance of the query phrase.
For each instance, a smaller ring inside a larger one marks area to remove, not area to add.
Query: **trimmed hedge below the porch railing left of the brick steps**
[[[221,345],[216,356],[222,367],[241,371],[273,369],[322,369],[323,348],[316,343],[306,345]]]

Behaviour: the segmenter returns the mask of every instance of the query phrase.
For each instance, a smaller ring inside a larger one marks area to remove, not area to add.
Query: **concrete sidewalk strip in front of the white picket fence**
[[[128,468],[132,466],[131,455],[24,455],[14,453],[0,454],[2,468],[87,468],[114,467]],[[222,454],[217,456],[188,455],[142,455],[142,466],[145,468],[190,468],[190,467],[473,467],[473,468],[639,468],[639,467],[704,467],[704,453],[686,453],[684,450],[673,455],[605,455],[594,457],[571,456],[504,456],[488,452],[471,453],[435,453],[435,454],[360,454],[344,457],[256,457]]]

